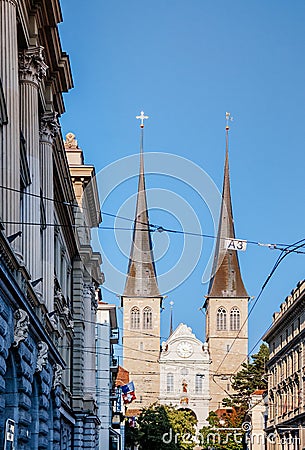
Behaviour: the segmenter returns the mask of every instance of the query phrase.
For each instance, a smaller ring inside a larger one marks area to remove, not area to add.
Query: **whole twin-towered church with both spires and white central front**
[[[228,119],[227,113],[227,119]],[[144,125],[143,125],[144,127]],[[142,128],[142,127],[141,127]],[[229,174],[229,127],[222,202],[214,265],[204,308],[206,343],[180,324],[162,344],[160,353],[160,307],[150,237],[145,190],[143,128],[137,205],[125,290],[124,367],[136,387],[137,400],[131,415],[154,402],[189,408],[198,424],[206,424],[209,411],[223,407],[234,390],[232,381],[248,354],[248,300],[238,254],[227,247],[235,239]]]

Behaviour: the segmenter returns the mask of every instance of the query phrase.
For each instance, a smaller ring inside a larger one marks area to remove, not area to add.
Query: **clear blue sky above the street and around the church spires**
[[[135,154],[139,148],[135,116],[144,109],[150,116],[145,152],[187,158],[221,189],[224,117],[230,111],[234,116],[230,171],[236,234],[287,244],[305,237],[302,0],[289,4],[283,0],[62,0],[62,11],[62,46],[71,58],[75,88],[65,95],[67,112],[61,124],[63,134],[73,131],[77,135],[87,163],[103,174],[109,164]],[[137,161],[131,161],[136,173]],[[149,171],[148,166],[149,162]],[[170,169],[162,166],[160,172]],[[99,181],[103,196],[103,177]],[[132,218],[136,187],[135,177],[122,182],[102,209],[117,214],[130,199],[123,211]],[[179,195],[187,216],[183,219],[187,225],[181,225],[179,213],[174,217],[154,206],[152,223],[176,229],[187,226],[187,231],[193,231],[195,220],[187,213],[190,205],[202,232],[213,234],[209,209],[191,186],[151,174],[147,187]],[[168,201],[172,206],[174,202]],[[105,215],[103,219],[104,226],[114,223]],[[129,222],[124,226],[130,226]],[[100,233],[106,257],[124,271],[128,260],[113,232]],[[122,245],[128,249],[130,233],[122,233]],[[183,239],[162,233],[153,238],[161,249],[157,270],[162,274],[179,259]],[[194,249],[199,245],[196,239],[190,242]],[[186,322],[204,340],[205,318],[198,308],[207,293],[201,278],[212,244],[204,240],[193,273],[165,299],[162,336],[168,334],[168,302],[173,300],[175,325]],[[277,256],[275,250],[253,245],[240,254],[250,296],[257,296]],[[304,262],[305,255],[292,254],[276,271],[250,318],[250,348],[271,323],[281,301],[304,278]],[[107,279],[106,270],[105,275]],[[118,304],[118,298],[107,290],[104,300]]]

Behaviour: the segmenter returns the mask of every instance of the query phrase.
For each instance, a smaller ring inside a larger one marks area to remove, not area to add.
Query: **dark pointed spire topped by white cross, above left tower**
[[[141,120],[140,171],[133,239],[123,296],[161,297],[153,257],[145,190],[143,131],[144,120],[148,119],[148,116],[141,111],[141,115],[136,118]]]

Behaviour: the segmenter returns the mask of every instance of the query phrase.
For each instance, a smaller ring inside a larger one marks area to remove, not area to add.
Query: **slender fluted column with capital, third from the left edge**
[[[59,132],[57,114],[46,113],[40,121],[41,189],[45,210],[46,228],[42,230],[42,298],[48,311],[54,311],[54,180],[53,141]],[[48,224],[51,224],[49,226]]]

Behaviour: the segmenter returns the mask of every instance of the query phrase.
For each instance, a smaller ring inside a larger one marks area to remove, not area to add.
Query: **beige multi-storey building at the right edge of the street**
[[[263,340],[269,345],[269,450],[305,447],[305,281],[300,281],[274,313]]]

